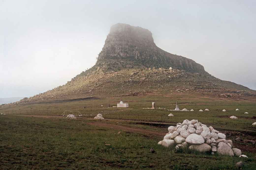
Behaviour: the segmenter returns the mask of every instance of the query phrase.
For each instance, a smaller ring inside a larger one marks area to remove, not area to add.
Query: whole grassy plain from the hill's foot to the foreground
[[[159,96],[158,96],[159,97]],[[147,100],[146,100],[147,99]],[[243,169],[255,169],[256,157],[251,144],[239,144],[249,158],[218,156],[182,151],[157,145],[167,133],[167,127],[184,119],[198,119],[207,126],[222,131],[236,131],[243,138],[255,140],[255,101],[235,101],[194,95],[177,97],[179,108],[194,112],[167,111],[174,109],[176,101],[162,96],[157,107],[151,107],[155,96],[127,96],[129,108],[114,108],[118,97],[85,101],[25,103],[0,108],[0,169],[234,169],[236,162],[244,161]],[[103,106],[101,106],[103,105]],[[198,112],[198,110],[210,111]],[[235,111],[239,108],[240,111]],[[227,112],[222,112],[226,109]],[[65,110],[79,110],[83,116],[66,119]],[[244,114],[248,112],[249,114]],[[95,126],[92,119],[101,113],[109,126]],[[168,114],[174,117],[168,117]],[[28,117],[30,115],[34,117]],[[44,115],[45,117],[36,117]],[[47,117],[47,115],[51,115]],[[238,119],[230,119],[229,116]],[[156,126],[152,126],[155,122]],[[139,131],[125,131],[111,126],[140,128],[163,135],[149,135]],[[120,135],[117,132],[121,131]],[[247,138],[247,134],[249,137]],[[234,139],[236,135],[233,135]],[[110,144],[110,145],[105,145]],[[238,144],[238,143],[237,143]],[[156,153],[149,150],[154,148]]]

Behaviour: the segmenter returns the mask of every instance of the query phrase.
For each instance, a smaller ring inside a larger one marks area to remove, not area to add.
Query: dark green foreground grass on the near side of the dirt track
[[[247,159],[175,153],[157,145],[157,137],[123,131],[117,135],[118,130],[87,122],[1,115],[0,169],[234,169],[241,160],[244,169],[256,166],[251,153],[244,153]]]

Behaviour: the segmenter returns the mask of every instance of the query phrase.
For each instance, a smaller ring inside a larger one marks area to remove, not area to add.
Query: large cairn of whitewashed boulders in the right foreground
[[[165,147],[175,146],[175,149],[188,148],[199,152],[211,152],[211,154],[242,155],[241,150],[233,148],[232,140],[226,140],[225,134],[195,119],[186,119],[183,123],[177,123],[177,126],[170,126],[168,131],[164,140],[158,144]]]

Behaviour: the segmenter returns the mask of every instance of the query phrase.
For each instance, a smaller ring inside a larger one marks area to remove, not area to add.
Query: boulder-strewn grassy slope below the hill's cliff
[[[101,69],[95,70],[96,68],[94,66],[91,70],[77,75],[65,85],[33,96],[26,101],[121,96],[150,93],[154,90],[164,94],[165,92],[172,93],[177,89],[184,91],[189,89],[189,92],[197,94],[202,91],[223,93],[232,90],[246,90],[255,93],[247,87],[217,79],[209,74],[135,68],[107,72]]]

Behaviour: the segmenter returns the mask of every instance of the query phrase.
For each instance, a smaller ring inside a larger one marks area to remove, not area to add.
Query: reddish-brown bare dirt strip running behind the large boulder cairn
[[[63,118],[63,116],[52,116],[52,115],[16,115],[16,116],[28,116],[28,117],[38,117],[38,118]],[[79,120],[79,119],[78,119]],[[156,137],[159,138],[159,140],[162,140],[165,134],[167,133],[167,128],[170,126],[170,124],[159,124],[158,122],[143,122],[143,121],[134,121],[134,120],[117,120],[117,119],[106,119],[104,121],[102,120],[95,120],[92,118],[83,117],[79,121],[87,120],[86,124],[98,126],[98,127],[106,127],[106,128],[112,128],[116,130],[126,131],[130,133],[140,133],[145,137]],[[125,122],[126,125],[115,125],[114,123],[120,123]],[[129,122],[133,122],[140,125],[145,126],[152,126],[153,129],[144,129],[144,128],[138,128],[138,127],[132,127],[129,126]],[[159,126],[158,126],[159,125]],[[246,131],[233,131],[233,130],[223,130],[223,129],[217,129],[220,130],[222,133],[225,133],[227,136],[227,139],[231,139],[233,141],[233,147],[238,148],[242,151],[256,153],[256,145],[255,143],[245,142],[245,141],[236,141],[235,139],[240,137],[243,140],[252,140],[256,141],[256,135],[255,132],[246,132]]]

